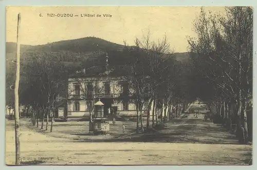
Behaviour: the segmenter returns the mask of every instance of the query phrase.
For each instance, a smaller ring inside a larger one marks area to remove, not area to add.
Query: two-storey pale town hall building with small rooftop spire
[[[68,79],[67,104],[59,108],[59,118],[90,118],[90,112],[93,118],[97,117],[94,104],[99,100],[104,104],[104,117],[109,114],[108,108],[120,117],[136,116],[136,105],[130,100],[133,91],[129,89],[126,78],[114,77],[109,73],[106,55],[102,73],[89,76],[83,70],[71,76]]]

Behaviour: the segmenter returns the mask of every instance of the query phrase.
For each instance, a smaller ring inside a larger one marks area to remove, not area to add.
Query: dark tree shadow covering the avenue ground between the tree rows
[[[201,115],[201,114],[200,114]],[[192,117],[192,116],[191,116]],[[110,139],[85,139],[78,142],[167,142],[201,144],[239,144],[235,135],[219,124],[199,118],[176,119],[165,123],[158,132],[133,134],[127,137]],[[124,134],[125,136],[126,134]]]

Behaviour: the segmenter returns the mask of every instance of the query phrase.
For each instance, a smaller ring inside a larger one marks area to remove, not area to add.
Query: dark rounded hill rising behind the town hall
[[[81,59],[98,58],[105,52],[121,51],[123,45],[108,42],[98,37],[83,37],[76,40],[65,40],[48,43],[44,45],[21,45],[21,59],[29,59],[31,53],[47,53],[63,56],[65,62],[77,62]],[[112,53],[112,52],[111,52]],[[6,43],[6,60],[13,60],[16,56],[16,43]],[[177,61],[187,61],[187,52],[175,53],[174,59]]]

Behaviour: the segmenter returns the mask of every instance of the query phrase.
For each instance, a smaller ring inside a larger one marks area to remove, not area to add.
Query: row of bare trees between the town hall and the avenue
[[[128,96],[135,104],[137,111],[137,131],[143,128],[143,108],[146,105],[146,128],[168,121],[185,111],[188,103],[194,99],[187,93],[189,69],[186,64],[176,62],[170,49],[167,37],[158,42],[151,41],[150,32],[136,39],[136,46],[125,43],[124,63],[116,67],[117,72],[123,72],[128,80]],[[126,95],[127,95],[126,93]],[[175,109],[174,109],[175,108]],[[160,109],[160,116],[157,110]],[[164,115],[164,117],[163,117]],[[152,118],[152,120],[150,120]],[[140,125],[139,125],[140,124]]]

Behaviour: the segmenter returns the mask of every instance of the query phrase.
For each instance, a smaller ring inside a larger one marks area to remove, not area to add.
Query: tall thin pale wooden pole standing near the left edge
[[[19,84],[20,84],[20,41],[19,31],[21,23],[21,14],[18,14],[17,23],[17,59],[16,59],[16,80],[14,87],[15,96],[15,164],[20,165],[20,118],[19,118]]]

